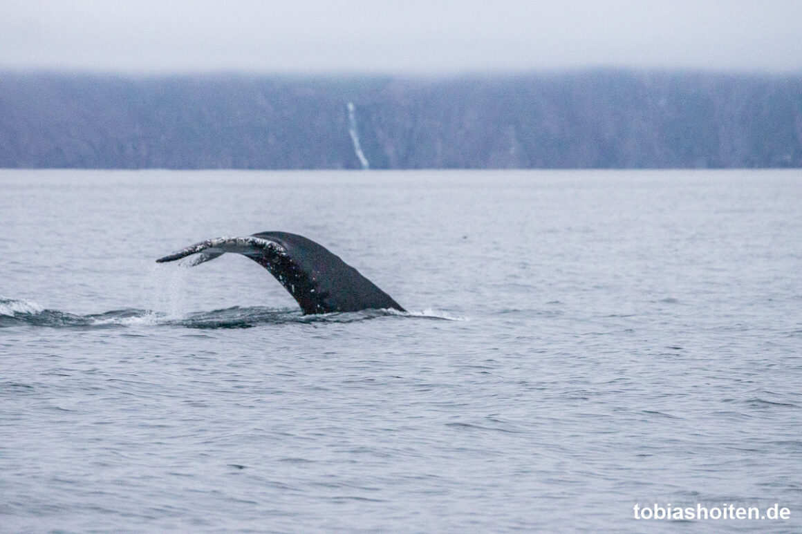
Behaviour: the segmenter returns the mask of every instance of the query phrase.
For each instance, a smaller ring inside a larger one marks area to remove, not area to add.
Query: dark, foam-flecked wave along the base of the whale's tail
[[[300,309],[274,309],[264,306],[233,306],[193,312],[180,317],[151,309],[113,309],[103,314],[71,314],[45,309],[34,302],[0,297],[0,328],[43,326],[50,328],[110,328],[126,326],[183,326],[196,329],[253,328],[286,323],[346,323],[375,318],[405,317],[461,321],[442,312],[399,312],[395,309],[365,309],[359,312],[303,315]]]

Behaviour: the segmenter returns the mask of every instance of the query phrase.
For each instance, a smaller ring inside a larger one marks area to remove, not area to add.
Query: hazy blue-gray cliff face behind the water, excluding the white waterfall
[[[355,121],[350,121],[353,104]],[[6,168],[802,166],[802,76],[0,75]]]

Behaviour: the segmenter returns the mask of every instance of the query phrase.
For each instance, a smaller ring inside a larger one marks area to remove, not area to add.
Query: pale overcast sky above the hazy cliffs
[[[802,73],[802,0],[0,0],[0,68]]]

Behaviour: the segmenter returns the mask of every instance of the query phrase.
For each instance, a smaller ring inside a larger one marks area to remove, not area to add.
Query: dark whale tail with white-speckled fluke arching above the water
[[[207,239],[156,262],[176,261],[197,254],[190,265],[200,265],[225,253],[242,254],[267,269],[290,292],[304,314],[374,308],[406,311],[328,249],[294,233],[261,232],[248,237]]]

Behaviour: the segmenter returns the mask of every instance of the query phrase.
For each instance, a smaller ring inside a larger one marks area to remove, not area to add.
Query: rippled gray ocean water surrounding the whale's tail
[[[802,532],[798,170],[4,170],[0,296],[0,532]]]

